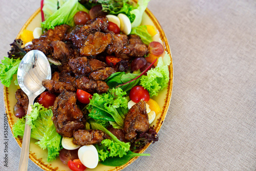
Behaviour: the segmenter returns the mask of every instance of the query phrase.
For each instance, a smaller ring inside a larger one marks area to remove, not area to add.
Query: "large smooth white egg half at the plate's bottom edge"
[[[78,158],[88,168],[95,168],[99,162],[97,149],[94,145],[83,145],[78,149]]]

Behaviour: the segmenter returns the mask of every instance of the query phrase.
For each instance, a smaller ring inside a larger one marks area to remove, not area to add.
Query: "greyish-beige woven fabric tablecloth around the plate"
[[[0,2],[0,56],[39,0]],[[256,2],[152,0],[169,41],[174,88],[159,142],[124,170],[256,170]],[[0,129],[4,129],[1,84]],[[9,130],[8,167],[0,131],[0,170],[17,170]],[[29,161],[29,170],[41,170]]]

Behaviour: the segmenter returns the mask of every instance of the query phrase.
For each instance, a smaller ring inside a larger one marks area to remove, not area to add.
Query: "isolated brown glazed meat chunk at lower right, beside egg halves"
[[[136,103],[127,113],[124,119],[125,139],[133,141],[136,139],[137,133],[147,132],[150,127],[148,115],[146,113],[146,103],[143,100]]]

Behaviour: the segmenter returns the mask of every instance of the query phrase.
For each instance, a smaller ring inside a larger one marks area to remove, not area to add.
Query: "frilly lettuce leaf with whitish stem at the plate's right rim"
[[[142,75],[140,85],[144,87],[150,96],[157,96],[160,90],[163,90],[168,85],[170,56],[165,52],[164,57],[158,58],[157,67],[147,71],[147,76]]]

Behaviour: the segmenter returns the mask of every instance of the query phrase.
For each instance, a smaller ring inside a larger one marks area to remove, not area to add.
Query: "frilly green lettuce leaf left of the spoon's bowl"
[[[5,87],[10,87],[13,75],[17,74],[20,61],[21,60],[19,60],[19,58],[10,59],[10,58],[4,57],[4,59],[2,59],[2,63],[0,63],[0,80]],[[17,77],[14,83],[18,85]]]

